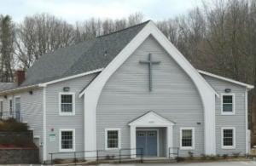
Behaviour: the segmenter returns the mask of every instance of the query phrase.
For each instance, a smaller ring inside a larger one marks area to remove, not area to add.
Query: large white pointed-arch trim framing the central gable
[[[108,78],[121,66],[125,60],[151,35],[166,50],[166,52],[183,68],[188,74],[196,89],[199,91],[204,106],[205,123],[205,153],[206,155],[216,154],[215,138],[215,96],[218,93],[212,89],[207,81],[195,70],[195,68],[183,57],[165,35],[154,25],[152,21],[138,32],[130,43],[122,49],[119,54],[105,67],[105,69],[79,94],[84,95],[84,150],[93,151],[96,149],[96,106],[102,93],[102,89]],[[93,127],[92,127],[93,126]]]

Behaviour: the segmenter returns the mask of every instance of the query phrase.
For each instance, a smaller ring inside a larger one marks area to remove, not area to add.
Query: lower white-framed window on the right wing
[[[222,148],[236,148],[236,131],[235,128],[222,128]]]

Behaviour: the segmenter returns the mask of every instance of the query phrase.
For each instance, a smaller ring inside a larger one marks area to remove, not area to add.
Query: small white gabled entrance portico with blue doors
[[[155,112],[147,112],[129,123],[131,157],[136,157],[137,148],[143,148],[145,157],[160,157],[160,149],[165,149],[163,156],[168,157],[169,147],[173,145],[173,125]]]

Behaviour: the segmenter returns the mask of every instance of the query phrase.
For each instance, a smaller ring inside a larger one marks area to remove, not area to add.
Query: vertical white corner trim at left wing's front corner
[[[43,88],[43,161],[47,160],[46,149],[46,87]]]

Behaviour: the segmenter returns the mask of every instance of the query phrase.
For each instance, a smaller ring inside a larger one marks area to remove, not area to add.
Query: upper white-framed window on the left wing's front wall
[[[74,94],[73,93],[61,93],[60,94],[60,115],[74,115]]]

